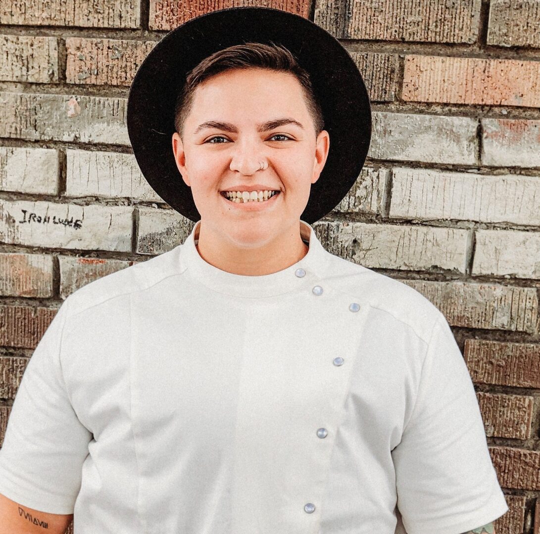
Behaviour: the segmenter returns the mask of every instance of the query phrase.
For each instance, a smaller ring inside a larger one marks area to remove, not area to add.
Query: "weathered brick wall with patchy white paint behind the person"
[[[366,167],[314,227],[329,251],[402,280],[447,317],[510,507],[497,534],[540,534],[540,3],[241,4],[313,20],[363,73]],[[0,3],[0,443],[62,300],[192,229],[140,174],[126,100],[146,54],[205,6]]]

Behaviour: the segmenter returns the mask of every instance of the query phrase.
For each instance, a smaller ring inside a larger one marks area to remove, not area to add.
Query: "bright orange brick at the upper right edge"
[[[540,107],[540,61],[406,56],[403,100]]]

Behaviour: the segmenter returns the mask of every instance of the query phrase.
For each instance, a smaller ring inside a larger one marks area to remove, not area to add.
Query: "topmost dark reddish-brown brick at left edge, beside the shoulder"
[[[0,346],[36,348],[57,308],[0,306]]]

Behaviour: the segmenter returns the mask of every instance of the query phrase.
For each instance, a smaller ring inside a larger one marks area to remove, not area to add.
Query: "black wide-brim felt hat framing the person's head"
[[[127,99],[127,132],[145,179],[163,200],[192,221],[201,216],[174,160],[177,95],[186,74],[228,46],[281,44],[312,81],[330,137],[328,158],[300,216],[312,224],[341,202],[360,175],[371,140],[366,85],[347,50],[311,20],[273,8],[241,6],[188,20],[154,46],[140,65]]]

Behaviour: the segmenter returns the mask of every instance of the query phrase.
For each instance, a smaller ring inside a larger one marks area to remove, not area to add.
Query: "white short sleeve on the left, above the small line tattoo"
[[[92,434],[71,405],[60,351],[69,297],[33,352],[0,448],[0,494],[50,514],[72,514]]]

